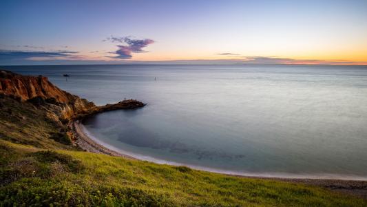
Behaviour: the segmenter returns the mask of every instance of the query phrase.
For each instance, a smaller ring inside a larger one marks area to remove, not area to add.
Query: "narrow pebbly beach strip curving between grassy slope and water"
[[[70,123],[70,128],[72,129],[72,135],[75,139],[74,143],[81,149],[87,152],[100,153],[105,155],[111,155],[116,157],[124,157],[127,159],[138,159],[137,157],[132,157],[131,155],[125,155],[121,152],[116,152],[115,150],[109,149],[101,144],[98,144],[94,139],[89,137],[87,133],[84,132],[81,127],[81,121],[74,120]],[[190,166],[189,166],[190,167]],[[196,169],[208,172],[213,172],[211,170]],[[367,199],[367,180],[355,180],[355,179],[328,179],[328,178],[293,178],[293,177],[264,177],[264,176],[253,176],[253,175],[236,175],[225,172],[214,172],[235,177],[247,177],[254,179],[268,179],[274,181],[285,181],[295,184],[306,184],[311,186],[319,186],[322,188],[327,188],[329,190],[337,191],[339,193],[347,193],[349,195],[355,195]]]

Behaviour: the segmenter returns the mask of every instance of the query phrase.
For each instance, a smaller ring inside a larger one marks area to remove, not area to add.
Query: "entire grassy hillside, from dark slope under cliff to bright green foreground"
[[[43,110],[5,97],[0,104],[0,206],[367,205],[312,186],[83,152],[55,138],[65,129]]]

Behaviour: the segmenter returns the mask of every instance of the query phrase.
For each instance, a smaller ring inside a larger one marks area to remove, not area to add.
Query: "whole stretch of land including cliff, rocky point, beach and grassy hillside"
[[[366,190],[361,182],[359,186],[352,184],[353,189],[359,190],[347,195],[311,184],[293,184],[289,179],[275,181],[267,177],[282,176],[278,173],[244,172],[249,177],[255,175],[251,179],[235,175],[236,172],[211,173],[216,169],[191,166],[191,161],[180,164],[165,160],[165,157],[154,159],[155,156],[144,156],[147,155],[144,151],[134,153],[128,146],[118,148],[114,142],[103,139],[103,134],[94,133],[84,121],[107,110],[138,110],[145,103],[128,99],[96,106],[57,88],[46,78],[3,73],[5,78],[0,77],[0,106],[3,109],[0,110],[0,137],[4,139],[1,155],[4,155],[2,170],[5,173],[1,181],[3,197],[11,198],[1,199],[5,204],[47,202],[73,206],[78,204],[77,200],[84,205],[113,205],[120,201],[130,204],[129,198],[132,198],[132,204],[141,206],[365,206],[367,201],[353,196],[363,198]],[[154,164],[161,161],[165,165]],[[196,170],[176,167],[185,164]],[[223,175],[228,173],[232,175]],[[330,186],[346,189],[334,183],[328,184]],[[19,190],[23,194],[19,194]],[[97,190],[101,192],[98,195]],[[70,196],[50,199],[50,191],[52,195]],[[34,199],[34,193],[39,197]]]

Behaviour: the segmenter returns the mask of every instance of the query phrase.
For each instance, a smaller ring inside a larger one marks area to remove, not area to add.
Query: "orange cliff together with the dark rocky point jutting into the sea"
[[[48,81],[47,77],[19,75],[7,70],[0,70],[0,94],[8,95],[21,101],[30,101],[44,108],[48,117],[56,121],[82,119],[98,112],[118,109],[132,109],[145,106],[136,100],[125,100],[115,104],[96,106],[87,99],[61,90]]]

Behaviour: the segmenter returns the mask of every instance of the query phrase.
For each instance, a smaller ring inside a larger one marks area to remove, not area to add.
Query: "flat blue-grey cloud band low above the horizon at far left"
[[[38,58],[60,58],[74,57],[78,52],[57,50],[57,51],[28,51],[28,50],[0,50],[0,60],[14,59],[38,59]]]

